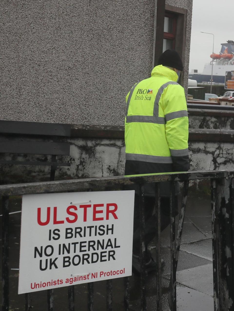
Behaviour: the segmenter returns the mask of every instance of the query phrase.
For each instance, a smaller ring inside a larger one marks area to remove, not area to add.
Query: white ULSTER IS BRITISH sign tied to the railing
[[[18,293],[130,276],[134,191],[23,195]]]

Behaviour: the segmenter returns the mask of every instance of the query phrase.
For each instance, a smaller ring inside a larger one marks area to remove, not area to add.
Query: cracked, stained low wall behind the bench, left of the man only
[[[7,141],[21,140],[21,137],[2,136]],[[24,140],[34,140],[24,136]],[[38,139],[37,139],[38,140]],[[52,141],[41,138],[40,141]],[[60,139],[59,139],[60,140]],[[123,139],[65,138],[70,143],[70,157],[58,156],[58,162],[70,162],[70,167],[59,166],[55,179],[74,179],[124,175],[125,144]],[[13,143],[13,142],[12,142]],[[51,156],[1,154],[0,160],[50,161]],[[50,178],[50,166],[0,165],[0,183],[22,183],[46,181]]]

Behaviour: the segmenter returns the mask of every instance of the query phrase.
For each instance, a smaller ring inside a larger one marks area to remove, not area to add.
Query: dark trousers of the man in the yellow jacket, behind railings
[[[155,197],[144,197],[145,199],[145,250],[156,234],[157,219],[154,214]],[[177,197],[175,204],[175,215],[178,215]],[[170,198],[160,198],[161,211],[161,232],[170,224]],[[140,254],[140,200],[139,195],[135,194],[134,221],[133,221],[133,253]]]

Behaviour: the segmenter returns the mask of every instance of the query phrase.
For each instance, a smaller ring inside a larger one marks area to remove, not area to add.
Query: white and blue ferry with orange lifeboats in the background
[[[196,80],[198,83],[210,83],[213,61],[213,84],[224,84],[226,71],[234,70],[234,41],[228,40],[227,43],[222,43],[220,53],[213,53],[210,57],[212,60],[204,65],[203,72],[192,70],[189,79]]]

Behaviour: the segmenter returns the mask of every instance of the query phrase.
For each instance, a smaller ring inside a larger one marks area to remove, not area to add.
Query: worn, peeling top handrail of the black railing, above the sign
[[[79,191],[90,188],[93,189],[112,186],[128,186],[136,183],[143,184],[163,181],[185,181],[195,179],[218,179],[233,177],[234,169],[226,169],[218,171],[172,172],[131,176],[94,177],[34,183],[18,183],[1,185],[0,196]]]

